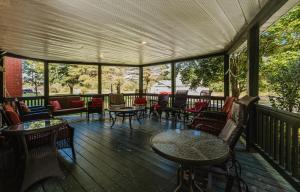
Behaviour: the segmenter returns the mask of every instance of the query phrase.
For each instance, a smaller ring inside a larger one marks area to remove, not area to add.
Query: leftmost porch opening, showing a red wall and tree
[[[44,95],[44,63],[40,61],[4,58],[5,97]]]

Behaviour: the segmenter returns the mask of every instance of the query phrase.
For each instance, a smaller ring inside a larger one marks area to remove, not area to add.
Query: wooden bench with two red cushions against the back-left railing
[[[55,107],[51,104],[53,101],[58,101],[61,108],[55,109]],[[77,102],[77,104],[74,101]],[[82,102],[82,105],[78,105],[78,102]],[[80,100],[80,96],[51,97],[49,98],[48,107],[53,116],[82,113],[87,111],[84,101]]]

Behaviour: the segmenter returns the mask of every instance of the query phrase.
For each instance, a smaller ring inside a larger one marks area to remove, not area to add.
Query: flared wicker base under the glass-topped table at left
[[[21,136],[25,162],[22,170],[23,178],[20,191],[25,191],[30,185],[48,177],[63,177],[57,159],[55,129],[34,133],[24,133]],[[23,160],[21,160],[23,162]]]

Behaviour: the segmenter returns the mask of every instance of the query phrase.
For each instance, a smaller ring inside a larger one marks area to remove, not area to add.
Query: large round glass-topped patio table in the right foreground
[[[189,191],[195,188],[202,191],[194,181],[194,167],[223,163],[230,154],[229,146],[223,140],[203,131],[168,130],[153,136],[150,142],[157,154],[180,164],[175,191],[183,186],[183,167],[189,170]]]

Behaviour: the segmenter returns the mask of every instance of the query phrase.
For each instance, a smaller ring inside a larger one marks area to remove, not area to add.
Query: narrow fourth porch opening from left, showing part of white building
[[[154,65],[143,68],[143,88],[147,93],[171,93],[171,65]]]

